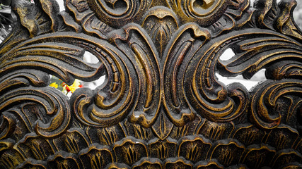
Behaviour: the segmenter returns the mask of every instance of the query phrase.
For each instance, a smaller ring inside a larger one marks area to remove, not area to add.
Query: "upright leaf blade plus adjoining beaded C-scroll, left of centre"
[[[127,25],[108,37],[117,47],[95,40],[91,49],[106,68],[108,80],[96,93],[79,89],[71,96],[76,117],[81,123],[105,127],[131,112],[132,122],[150,126],[161,101],[158,55],[151,40],[139,25]]]

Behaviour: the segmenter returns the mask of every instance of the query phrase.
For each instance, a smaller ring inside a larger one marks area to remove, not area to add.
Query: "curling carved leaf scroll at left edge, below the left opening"
[[[40,76],[35,76],[33,70],[29,70],[28,73],[10,73],[2,80],[4,83],[1,83],[3,90],[0,91],[2,93],[0,110],[4,114],[19,115],[23,119],[24,125],[28,126],[28,130],[31,132],[35,130],[43,137],[55,137],[62,134],[69,126],[71,113],[67,98],[61,92],[55,91],[51,87],[45,87],[49,77],[45,77],[44,73],[41,73]],[[30,87],[29,84],[40,86],[40,88]],[[11,87],[16,89],[8,90]],[[11,107],[11,105],[17,106]],[[39,106],[37,106],[37,108],[28,110],[30,105],[39,105],[43,109],[39,110]],[[21,109],[18,109],[18,106]],[[26,118],[28,115],[33,115],[35,118],[28,120]],[[2,117],[4,118],[4,116]],[[14,127],[11,130],[14,130]]]

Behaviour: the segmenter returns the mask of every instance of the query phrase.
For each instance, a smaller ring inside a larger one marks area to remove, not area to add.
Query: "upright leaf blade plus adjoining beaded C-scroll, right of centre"
[[[194,34],[190,34],[190,30]],[[216,43],[219,39],[212,39],[207,43],[209,31],[193,24],[180,27],[177,36],[173,43],[182,43],[169,44],[163,72],[165,102],[173,123],[175,119],[181,123],[192,119],[194,112],[225,122],[246,111],[249,94],[245,87],[233,84],[226,89],[214,76],[223,42],[219,44]],[[180,115],[186,117],[180,118]]]

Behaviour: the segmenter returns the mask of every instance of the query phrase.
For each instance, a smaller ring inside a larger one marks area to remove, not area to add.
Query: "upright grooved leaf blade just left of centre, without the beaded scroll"
[[[161,106],[161,73],[158,53],[153,42],[136,24],[126,25],[108,37],[134,66],[130,77],[138,95],[129,120],[150,127],[156,120]]]

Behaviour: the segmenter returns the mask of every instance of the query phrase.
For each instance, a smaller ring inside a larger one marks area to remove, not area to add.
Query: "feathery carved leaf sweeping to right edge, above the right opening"
[[[233,36],[236,36],[235,34],[245,39],[240,40],[233,47],[236,49],[236,55],[233,58],[228,61],[219,61],[222,68],[226,69],[226,71],[221,71],[223,75],[243,73],[243,76],[249,79],[268,63],[274,63],[281,58],[299,59],[302,56],[301,44],[276,32],[252,29],[236,32]]]

